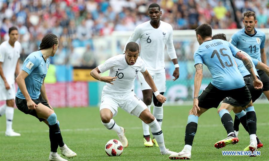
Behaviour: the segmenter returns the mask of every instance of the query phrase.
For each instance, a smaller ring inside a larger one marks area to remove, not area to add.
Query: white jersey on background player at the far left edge
[[[12,47],[8,41],[4,41],[0,45],[0,62],[3,62],[2,69],[9,85],[15,83],[15,70],[21,50],[21,43],[18,41],[15,42],[14,47]],[[4,80],[1,76],[0,84],[4,85]]]

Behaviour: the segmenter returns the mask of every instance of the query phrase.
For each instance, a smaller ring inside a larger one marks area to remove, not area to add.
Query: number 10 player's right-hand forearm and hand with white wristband
[[[158,91],[151,75],[149,74],[148,70],[146,70],[145,72],[141,72],[146,80],[146,82],[148,83],[149,87],[152,89],[152,91],[154,92],[154,95],[156,96],[156,98],[158,99],[159,102],[164,103],[166,101],[165,96],[161,95],[160,92]]]

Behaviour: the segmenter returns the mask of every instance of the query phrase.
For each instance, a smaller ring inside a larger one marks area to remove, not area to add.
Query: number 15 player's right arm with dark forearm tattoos
[[[242,60],[244,63],[244,66],[251,74],[251,77],[253,79],[253,86],[255,89],[262,89],[262,82],[257,78],[256,74],[254,73],[253,66],[251,61],[240,51],[236,53],[236,58]]]

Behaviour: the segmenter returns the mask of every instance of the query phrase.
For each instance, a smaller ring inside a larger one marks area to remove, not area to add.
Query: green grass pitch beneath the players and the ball
[[[162,130],[166,148],[181,151],[187,116],[191,106],[164,107]],[[114,118],[118,125],[126,129],[129,147],[119,157],[108,157],[105,144],[110,139],[118,139],[114,131],[107,130],[101,123],[99,108],[54,108],[60,121],[62,137],[66,145],[77,153],[69,160],[169,160],[160,155],[159,148],[143,145],[143,130],[140,119],[119,109]],[[192,147],[192,160],[268,160],[269,158],[269,105],[255,105],[257,114],[257,135],[264,148],[257,157],[222,156],[221,150],[242,151],[249,144],[249,135],[242,125],[239,127],[239,143],[216,149],[215,142],[227,134],[215,108],[204,113],[198,121],[198,129]],[[232,117],[234,114],[231,112]],[[48,160],[50,141],[48,126],[33,116],[15,110],[13,129],[21,137],[5,137],[5,116],[0,118],[0,160]],[[60,150],[58,148],[58,154]],[[67,159],[66,157],[64,157]]]

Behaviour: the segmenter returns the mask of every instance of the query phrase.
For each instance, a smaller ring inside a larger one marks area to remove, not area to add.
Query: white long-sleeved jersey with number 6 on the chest
[[[164,69],[164,48],[166,45],[170,59],[176,59],[175,47],[173,44],[173,28],[170,24],[160,21],[158,28],[153,28],[150,21],[138,25],[128,42],[140,40],[140,57],[145,61],[146,68],[150,73],[165,72]]]

